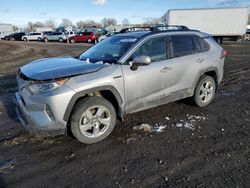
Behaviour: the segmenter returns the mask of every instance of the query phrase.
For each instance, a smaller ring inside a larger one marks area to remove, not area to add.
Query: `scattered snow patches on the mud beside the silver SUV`
[[[169,117],[165,117],[167,121],[170,121]],[[195,124],[200,121],[205,121],[206,117],[201,115],[189,115],[187,114],[187,117],[183,120],[181,119],[179,122],[173,123],[173,124],[166,124],[166,123],[156,123],[154,126],[142,123],[140,125],[134,126],[133,130],[141,130],[144,132],[156,132],[156,133],[161,133],[164,132],[164,130],[167,127],[177,127],[177,128],[185,128],[185,129],[190,129],[194,130],[195,129]]]

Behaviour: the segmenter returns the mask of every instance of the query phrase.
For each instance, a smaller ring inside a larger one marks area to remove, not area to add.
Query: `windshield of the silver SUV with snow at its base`
[[[91,63],[116,63],[136,41],[135,37],[109,37],[81,54],[79,59]]]

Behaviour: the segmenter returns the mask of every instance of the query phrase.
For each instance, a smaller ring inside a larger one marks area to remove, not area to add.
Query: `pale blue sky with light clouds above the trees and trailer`
[[[73,22],[104,17],[142,23],[168,9],[250,6],[250,0],[0,0],[0,23],[24,26],[27,22],[62,18]]]

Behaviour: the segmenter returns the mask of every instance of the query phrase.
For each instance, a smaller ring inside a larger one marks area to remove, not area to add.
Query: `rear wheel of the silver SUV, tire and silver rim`
[[[203,75],[195,89],[193,101],[199,107],[208,106],[215,95],[216,84],[214,78]]]

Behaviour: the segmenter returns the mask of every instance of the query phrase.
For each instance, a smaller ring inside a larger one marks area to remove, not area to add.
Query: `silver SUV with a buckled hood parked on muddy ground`
[[[178,29],[117,34],[77,57],[19,69],[17,114],[25,129],[82,143],[105,139],[117,118],[191,98],[209,105],[223,77],[224,50],[208,34]]]

